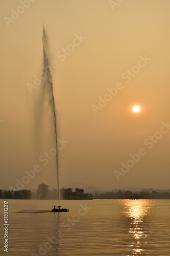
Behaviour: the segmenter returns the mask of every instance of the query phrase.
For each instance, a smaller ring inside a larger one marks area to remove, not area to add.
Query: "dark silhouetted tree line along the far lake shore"
[[[48,189],[49,186],[42,183],[38,185],[36,191],[30,189],[22,190],[2,190],[0,189],[0,199],[58,199],[58,190],[53,188]],[[88,194],[84,193],[83,188],[76,188],[75,191],[71,187],[60,189],[60,199],[66,200],[81,200],[81,199],[130,199],[131,197],[138,197],[139,199],[170,199],[169,192],[158,192],[153,190],[152,193],[149,191],[140,191],[134,193],[130,190],[106,192],[102,194]]]

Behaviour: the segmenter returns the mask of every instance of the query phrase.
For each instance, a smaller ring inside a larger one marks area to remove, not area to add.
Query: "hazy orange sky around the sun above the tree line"
[[[170,2],[0,4],[0,188],[16,188],[18,180],[26,189],[40,183],[57,187],[48,106],[44,122],[37,125],[34,118],[44,25],[60,140],[60,187],[82,182],[107,189],[169,189]],[[134,105],[139,113],[132,111]],[[27,178],[25,171],[33,168]]]

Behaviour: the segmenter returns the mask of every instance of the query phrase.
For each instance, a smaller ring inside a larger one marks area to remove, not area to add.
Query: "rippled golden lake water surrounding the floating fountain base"
[[[170,255],[170,200],[61,200],[69,212],[48,211],[54,200],[6,201],[9,248],[0,200],[0,255]]]

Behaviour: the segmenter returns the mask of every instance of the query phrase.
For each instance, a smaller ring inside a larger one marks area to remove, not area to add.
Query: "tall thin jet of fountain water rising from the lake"
[[[47,36],[45,33],[45,28],[43,27],[42,32],[42,44],[43,44],[43,71],[46,74],[46,79],[43,82],[43,91],[48,92],[48,96],[50,96],[50,102],[52,107],[53,114],[53,122],[54,122],[54,131],[55,131],[55,144],[56,144],[56,169],[57,169],[57,187],[58,187],[58,203],[60,205],[60,189],[59,189],[59,164],[58,164],[58,139],[57,139],[57,120],[56,120],[56,110],[55,110],[55,99],[53,94],[53,81],[52,75],[50,71],[50,67],[48,65],[48,44],[47,44]],[[47,88],[46,88],[47,87]]]

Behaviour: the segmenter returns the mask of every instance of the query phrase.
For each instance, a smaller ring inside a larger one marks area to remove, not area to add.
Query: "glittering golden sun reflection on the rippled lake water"
[[[153,201],[151,200],[122,200],[122,213],[130,220],[129,234],[132,241],[128,248],[133,255],[141,255],[145,250],[150,232],[148,232],[146,217],[151,213]]]

